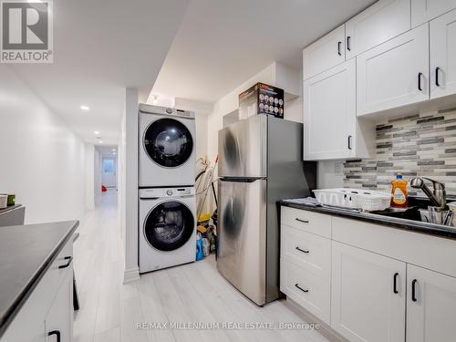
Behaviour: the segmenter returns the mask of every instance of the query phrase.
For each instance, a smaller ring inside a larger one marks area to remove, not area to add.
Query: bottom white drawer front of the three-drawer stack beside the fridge
[[[294,263],[282,259],[280,290],[327,325],[331,324],[329,279],[311,275]]]

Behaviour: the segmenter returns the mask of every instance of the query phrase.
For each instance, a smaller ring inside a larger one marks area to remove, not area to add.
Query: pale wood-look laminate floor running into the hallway
[[[75,242],[75,272],[80,310],[75,313],[75,342],[300,341],[326,342],[315,330],[302,329],[138,329],[138,323],[304,323],[284,301],[255,306],[205,260],[142,275],[122,284],[117,192],[103,194],[86,214]]]

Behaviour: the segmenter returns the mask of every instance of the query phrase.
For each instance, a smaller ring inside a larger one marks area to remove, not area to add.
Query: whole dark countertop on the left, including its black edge
[[[78,225],[0,227],[0,337]]]

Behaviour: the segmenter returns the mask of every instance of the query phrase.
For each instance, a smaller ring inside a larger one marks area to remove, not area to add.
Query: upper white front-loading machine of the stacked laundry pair
[[[140,104],[140,187],[195,182],[192,111]]]

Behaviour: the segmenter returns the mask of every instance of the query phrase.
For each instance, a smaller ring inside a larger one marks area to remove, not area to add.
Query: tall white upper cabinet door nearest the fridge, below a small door
[[[306,161],[342,159],[356,152],[355,60],[304,82]]]

